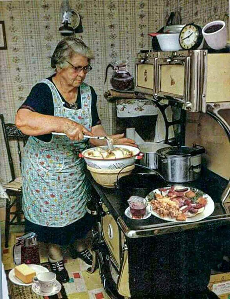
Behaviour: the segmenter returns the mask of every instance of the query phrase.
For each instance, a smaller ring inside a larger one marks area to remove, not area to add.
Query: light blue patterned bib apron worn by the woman
[[[69,118],[91,131],[91,90],[80,86],[81,109],[68,109],[48,79],[54,102],[54,116]],[[67,226],[86,213],[90,197],[84,159],[88,140],[71,141],[67,136],[52,135],[50,142],[30,136],[23,156],[23,211],[29,221],[43,226]]]

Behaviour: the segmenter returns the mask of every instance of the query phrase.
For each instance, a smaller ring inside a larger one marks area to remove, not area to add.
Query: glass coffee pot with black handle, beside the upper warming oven
[[[114,72],[110,79],[112,87],[116,90],[133,90],[134,89],[134,78],[127,70],[127,60],[119,60],[115,64],[109,63],[105,70],[105,82],[107,79],[108,68],[113,68]],[[104,83],[105,83],[104,82]]]

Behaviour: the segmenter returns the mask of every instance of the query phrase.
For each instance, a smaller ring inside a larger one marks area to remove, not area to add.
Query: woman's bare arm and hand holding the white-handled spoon
[[[94,136],[84,126],[70,119],[40,114],[29,109],[19,109],[15,124],[26,135],[43,135],[51,132],[65,133],[71,140],[83,139],[83,134]]]

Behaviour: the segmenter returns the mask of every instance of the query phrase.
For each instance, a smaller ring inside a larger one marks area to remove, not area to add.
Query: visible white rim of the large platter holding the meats
[[[164,189],[169,189],[170,187],[165,187]],[[202,192],[201,190],[199,189],[196,189],[196,188],[190,188],[190,187],[184,187],[184,186],[180,186],[180,188],[188,188],[188,190],[192,189],[194,190],[195,192],[199,191],[199,192]],[[154,194],[155,193],[161,193],[161,191],[159,189],[155,189],[153,191],[151,191],[147,196],[146,196],[146,200],[147,201],[150,201],[151,199],[149,197],[151,197],[152,199],[154,198]],[[181,222],[181,223],[186,223],[186,222],[196,222],[196,221],[199,221],[199,220],[202,220],[202,219],[205,219],[207,218],[208,216],[210,216],[214,209],[215,209],[215,204],[214,204],[214,201],[212,200],[212,198],[207,195],[206,193],[202,192],[203,195],[202,197],[206,198],[207,199],[207,205],[205,206],[205,209],[202,213],[199,213],[197,214],[196,216],[194,217],[187,217],[186,220],[184,221],[181,221],[181,220],[176,220],[176,218],[170,218],[170,217],[161,217],[159,214],[157,214],[154,210],[152,210],[152,215],[156,216],[157,218],[160,218],[162,220],[166,220],[166,221],[170,221],[170,222]]]

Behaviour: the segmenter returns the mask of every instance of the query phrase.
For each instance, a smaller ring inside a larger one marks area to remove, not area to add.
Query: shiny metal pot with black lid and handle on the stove
[[[166,181],[184,183],[196,180],[201,172],[201,146],[172,146],[156,151],[158,168]]]

